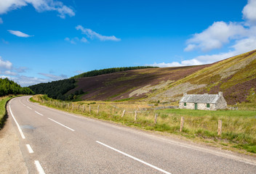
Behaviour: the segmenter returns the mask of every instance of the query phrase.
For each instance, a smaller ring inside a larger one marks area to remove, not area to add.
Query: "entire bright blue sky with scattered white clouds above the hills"
[[[1,0],[0,77],[216,62],[256,49],[256,0]]]

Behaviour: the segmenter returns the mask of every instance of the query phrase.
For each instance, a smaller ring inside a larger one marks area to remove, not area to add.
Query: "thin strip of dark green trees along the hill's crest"
[[[156,68],[151,66],[137,66],[137,67],[111,67],[103,70],[92,70],[88,72],[81,73],[79,75],[73,76],[73,78],[85,78],[85,77],[92,77],[97,75],[109,74],[113,72],[121,72],[127,70],[139,70],[139,69],[147,69],[147,68]]]

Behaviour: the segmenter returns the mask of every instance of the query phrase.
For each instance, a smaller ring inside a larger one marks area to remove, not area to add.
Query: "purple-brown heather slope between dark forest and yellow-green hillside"
[[[129,70],[78,78],[77,87],[68,93],[82,90],[85,94],[80,99],[83,100],[141,99],[207,66],[209,65]]]

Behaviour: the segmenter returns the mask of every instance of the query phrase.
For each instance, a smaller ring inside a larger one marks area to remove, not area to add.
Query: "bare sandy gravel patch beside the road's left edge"
[[[9,118],[4,128],[0,130],[0,173],[28,173],[20,152],[19,140]]]

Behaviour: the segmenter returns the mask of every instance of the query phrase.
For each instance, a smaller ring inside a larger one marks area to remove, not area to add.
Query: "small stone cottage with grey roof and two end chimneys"
[[[180,109],[217,110],[226,109],[227,102],[223,93],[219,94],[184,94],[180,99]]]

